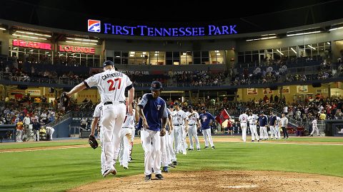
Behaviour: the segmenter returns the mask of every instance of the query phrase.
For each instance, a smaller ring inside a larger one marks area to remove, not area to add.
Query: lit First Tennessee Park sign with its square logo
[[[88,31],[94,33],[113,34],[120,36],[222,36],[237,34],[237,26],[182,26],[176,28],[164,28],[153,26],[119,26],[111,23],[103,23],[98,20],[88,20]]]

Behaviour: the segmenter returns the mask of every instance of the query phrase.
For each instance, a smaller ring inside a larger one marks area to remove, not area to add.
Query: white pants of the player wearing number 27
[[[119,131],[124,122],[126,106],[114,102],[114,104],[103,105],[101,114],[102,145],[101,145],[101,174],[111,169],[119,154],[120,138]]]

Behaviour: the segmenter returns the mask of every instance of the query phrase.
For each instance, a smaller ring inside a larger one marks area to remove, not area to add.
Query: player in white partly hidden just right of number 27
[[[134,103],[132,103],[134,105]],[[132,129],[134,129],[134,124],[139,121],[139,115],[136,110],[134,114],[126,112],[126,117],[124,123],[120,129],[120,154],[119,154],[119,163],[123,166],[124,169],[129,169],[129,151],[131,149],[131,138],[132,138]]]

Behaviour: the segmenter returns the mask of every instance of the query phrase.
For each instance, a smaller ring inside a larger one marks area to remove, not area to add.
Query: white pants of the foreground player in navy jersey
[[[155,174],[161,174],[161,137],[159,134],[160,132],[141,129],[145,175],[151,174],[151,168],[154,169]]]

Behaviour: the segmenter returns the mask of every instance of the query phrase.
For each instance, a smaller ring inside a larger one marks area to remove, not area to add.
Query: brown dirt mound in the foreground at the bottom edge
[[[144,175],[107,178],[70,191],[342,191],[343,178],[282,171],[190,171],[164,174],[164,180],[144,181]]]

